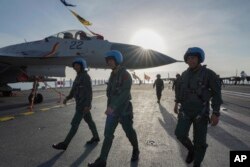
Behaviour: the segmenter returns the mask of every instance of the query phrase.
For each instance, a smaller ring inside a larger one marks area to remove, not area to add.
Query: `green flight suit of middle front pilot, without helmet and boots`
[[[107,87],[107,106],[114,112],[107,115],[104,141],[101,150],[100,159],[106,161],[110,151],[115,129],[120,122],[134,149],[138,149],[137,134],[133,128],[133,107],[131,100],[132,79],[124,67],[118,66],[111,72]]]

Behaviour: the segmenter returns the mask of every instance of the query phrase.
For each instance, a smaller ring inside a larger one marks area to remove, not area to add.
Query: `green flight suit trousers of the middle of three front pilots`
[[[126,133],[127,138],[129,139],[133,149],[138,149],[138,140],[137,134],[133,128],[133,116],[126,115],[121,117],[116,117],[112,115],[108,115],[106,118],[105,131],[104,131],[104,141],[102,145],[100,159],[107,160],[108,154],[114,139],[114,132],[118,125],[121,123],[123,130]]]

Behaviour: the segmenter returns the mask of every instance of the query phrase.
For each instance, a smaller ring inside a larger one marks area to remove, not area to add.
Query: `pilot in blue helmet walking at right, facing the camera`
[[[207,149],[206,135],[209,120],[212,126],[219,122],[221,87],[215,72],[202,66],[205,53],[201,48],[189,48],[184,61],[188,69],[181,75],[176,85],[176,100],[174,112],[178,113],[175,129],[177,139],[188,149],[186,162],[194,161],[194,167],[199,167]],[[209,119],[209,102],[213,109]],[[178,104],[181,104],[178,110]],[[188,137],[190,126],[193,124],[193,142]]]

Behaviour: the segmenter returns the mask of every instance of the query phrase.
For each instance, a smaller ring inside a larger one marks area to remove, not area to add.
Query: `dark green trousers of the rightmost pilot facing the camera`
[[[200,120],[195,120],[199,112],[180,112],[178,122],[175,129],[177,139],[188,149],[194,151],[194,164],[200,165],[204,159],[207,143],[207,126],[208,118],[202,117]],[[189,138],[189,130],[193,124],[193,143]]]

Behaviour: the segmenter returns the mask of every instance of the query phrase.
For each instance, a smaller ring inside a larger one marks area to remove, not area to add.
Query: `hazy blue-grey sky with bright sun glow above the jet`
[[[221,76],[244,70],[250,75],[249,0],[67,0],[71,8],[93,23],[94,32],[111,42],[138,44],[183,60],[188,47],[206,53],[205,64]],[[0,47],[43,39],[84,27],[60,0],[1,0]],[[145,38],[145,36],[148,36]],[[175,76],[185,63],[136,70],[153,79]],[[109,71],[92,69],[92,78]],[[74,72],[67,68],[67,78]]]

